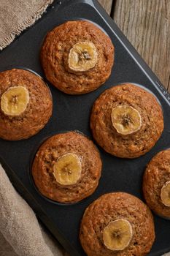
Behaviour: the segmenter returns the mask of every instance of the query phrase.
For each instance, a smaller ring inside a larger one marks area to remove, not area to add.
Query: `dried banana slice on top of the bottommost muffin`
[[[132,236],[130,222],[126,219],[116,219],[104,228],[104,245],[112,251],[122,251],[129,245]]]

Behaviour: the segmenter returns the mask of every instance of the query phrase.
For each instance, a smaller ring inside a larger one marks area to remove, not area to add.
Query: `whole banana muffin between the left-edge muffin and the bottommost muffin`
[[[101,176],[101,158],[91,140],[66,132],[40,146],[32,166],[39,192],[60,203],[76,203],[91,195]]]

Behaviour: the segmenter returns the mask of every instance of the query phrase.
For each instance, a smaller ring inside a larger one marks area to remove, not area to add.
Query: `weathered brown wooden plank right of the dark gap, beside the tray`
[[[170,91],[170,0],[117,0],[114,20]]]

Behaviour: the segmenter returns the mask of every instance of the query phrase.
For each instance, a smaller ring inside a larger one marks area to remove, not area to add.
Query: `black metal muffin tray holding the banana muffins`
[[[48,83],[53,95],[53,116],[46,127],[28,140],[12,142],[0,139],[0,162],[12,184],[71,256],[85,256],[79,241],[80,219],[85,208],[107,192],[128,192],[143,200],[142,175],[147,162],[158,151],[170,147],[170,95],[97,1],[55,1],[34,26],[1,51],[0,71],[23,67],[45,78],[39,61],[39,50],[45,34],[66,20],[79,19],[95,23],[109,35],[115,45],[115,65],[109,80],[96,91],[77,96],[63,94]],[[112,157],[98,147],[103,169],[96,192],[73,205],[46,200],[37,192],[30,175],[36,149],[45,138],[65,130],[79,130],[93,139],[89,127],[93,102],[104,90],[128,82],[144,86],[161,103],[165,124],[161,139],[150,152],[136,159]],[[170,221],[155,215],[154,221],[156,238],[150,256],[170,251]]]

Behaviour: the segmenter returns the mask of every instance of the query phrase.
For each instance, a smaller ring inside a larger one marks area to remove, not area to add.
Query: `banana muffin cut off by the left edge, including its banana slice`
[[[46,83],[23,69],[0,72],[0,138],[22,140],[45,127],[53,102]]]

